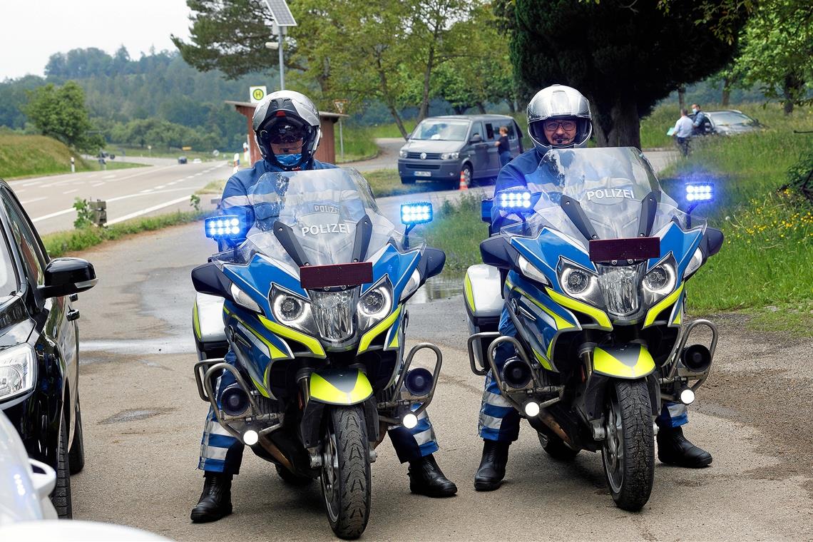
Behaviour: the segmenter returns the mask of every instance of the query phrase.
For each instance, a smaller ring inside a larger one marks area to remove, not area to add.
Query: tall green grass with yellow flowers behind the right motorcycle
[[[813,205],[778,191],[788,167],[813,145],[813,135],[793,133],[813,130],[813,108],[798,109],[790,118],[778,106],[733,108],[759,118],[766,130],[705,138],[672,169],[672,178],[663,180],[666,192],[679,200],[685,180],[711,178],[717,186],[717,201],[698,207],[695,215],[709,215],[725,243],[689,281],[689,310],[748,310],[754,325],[790,332],[813,328],[813,314],[805,308],[813,305]],[[479,242],[486,235],[479,202],[464,199],[442,209],[425,235],[447,251],[450,270],[479,262]],[[789,315],[781,320],[781,314]],[[776,325],[778,320],[783,325]]]

